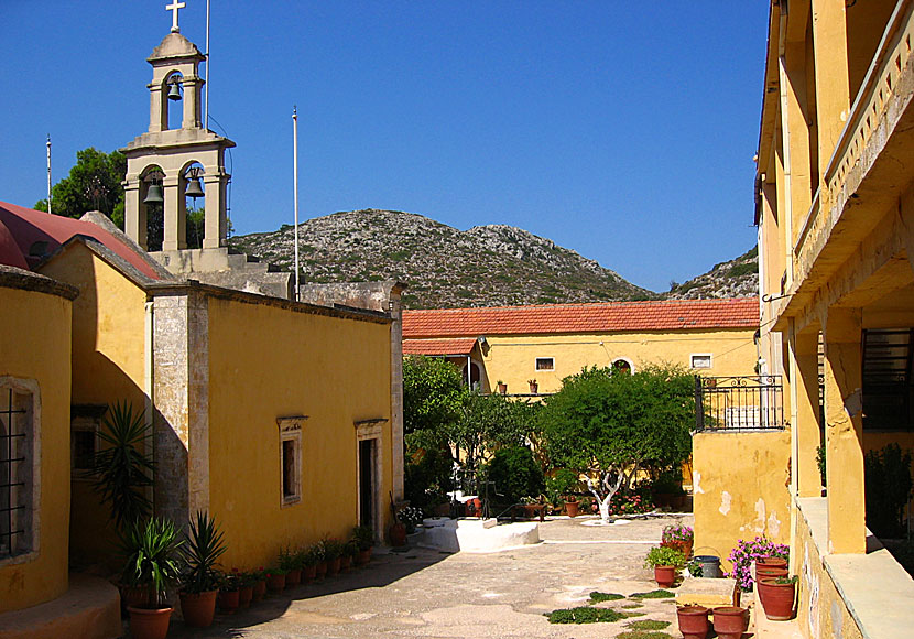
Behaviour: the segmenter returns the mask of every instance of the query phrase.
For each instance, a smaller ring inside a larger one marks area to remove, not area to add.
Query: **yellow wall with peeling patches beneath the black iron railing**
[[[740,539],[788,543],[788,431],[698,433],[692,441],[695,553],[727,557]]]

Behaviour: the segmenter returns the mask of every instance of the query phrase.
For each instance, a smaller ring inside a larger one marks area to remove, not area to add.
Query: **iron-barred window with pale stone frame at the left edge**
[[[0,560],[35,549],[37,385],[0,378]]]

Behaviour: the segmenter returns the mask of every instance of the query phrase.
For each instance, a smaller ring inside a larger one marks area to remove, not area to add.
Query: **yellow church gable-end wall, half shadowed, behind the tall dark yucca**
[[[75,243],[42,273],[79,289],[73,305],[74,404],[145,405],[145,292],[85,246]],[[73,481],[70,551],[77,562],[110,557],[117,538],[109,510],[85,479]],[[78,520],[77,520],[78,515]]]

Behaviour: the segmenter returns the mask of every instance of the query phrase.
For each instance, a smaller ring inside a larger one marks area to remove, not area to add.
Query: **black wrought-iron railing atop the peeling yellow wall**
[[[695,377],[697,431],[771,431],[784,427],[780,375]]]

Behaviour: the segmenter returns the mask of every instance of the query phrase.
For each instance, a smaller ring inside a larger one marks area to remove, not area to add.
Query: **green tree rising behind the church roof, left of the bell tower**
[[[81,217],[89,210],[100,210],[123,228],[123,186],[127,158],[120,151],[105,153],[89,147],[76,152],[76,164],[69,175],[52,189],[51,213],[65,217]],[[35,209],[47,210],[47,201],[40,199]]]

